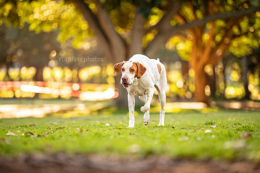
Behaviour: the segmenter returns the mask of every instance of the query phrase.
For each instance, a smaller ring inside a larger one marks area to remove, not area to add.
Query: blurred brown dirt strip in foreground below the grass
[[[0,170],[4,172],[260,172],[260,164],[249,161],[195,161],[172,160],[149,156],[144,159],[115,156],[77,155],[24,155],[0,158]]]

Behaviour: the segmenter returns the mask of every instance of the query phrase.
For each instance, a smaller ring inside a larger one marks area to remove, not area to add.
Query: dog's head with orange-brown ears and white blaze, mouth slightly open
[[[133,84],[135,78],[139,79],[145,73],[146,67],[139,62],[123,61],[114,65],[115,76],[122,71],[120,83],[127,88]]]

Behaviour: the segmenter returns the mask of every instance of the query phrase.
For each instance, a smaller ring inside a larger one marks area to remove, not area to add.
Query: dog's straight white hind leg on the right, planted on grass
[[[160,80],[157,82],[156,85],[154,85],[161,103],[161,111],[160,111],[160,122],[158,126],[164,126],[164,106],[166,102],[166,86],[167,86],[167,79],[166,79],[166,73],[165,71],[161,74]]]

